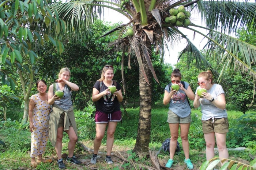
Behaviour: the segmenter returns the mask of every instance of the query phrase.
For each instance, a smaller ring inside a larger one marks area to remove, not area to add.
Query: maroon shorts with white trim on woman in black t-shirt
[[[121,122],[121,114],[121,110],[113,112],[112,114],[106,114],[97,110],[95,113],[95,123]]]

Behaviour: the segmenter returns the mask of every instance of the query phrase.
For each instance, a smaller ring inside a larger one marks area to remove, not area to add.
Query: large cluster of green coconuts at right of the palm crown
[[[176,25],[177,27],[188,27],[191,24],[191,21],[189,20],[191,13],[186,11],[184,6],[180,6],[178,9],[171,8],[169,13],[170,16],[165,18],[165,23],[170,23]]]

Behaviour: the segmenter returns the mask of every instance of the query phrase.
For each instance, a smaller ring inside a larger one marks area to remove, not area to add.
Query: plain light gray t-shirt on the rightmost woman
[[[197,89],[200,87],[196,88],[196,93],[197,94]],[[225,94],[223,88],[219,84],[212,84],[212,87],[207,90],[207,93],[210,93],[211,96],[217,100],[217,96],[221,95],[222,93]],[[227,111],[226,109],[220,109],[212,102],[210,102],[207,99],[199,99],[201,103],[201,108],[202,108],[202,120],[209,120],[212,117],[214,118],[227,118]]]

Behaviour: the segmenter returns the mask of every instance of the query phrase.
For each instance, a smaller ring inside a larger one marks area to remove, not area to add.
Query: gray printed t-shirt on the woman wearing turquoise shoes
[[[185,89],[188,89],[189,84],[185,83]],[[171,83],[172,86],[172,83]],[[165,90],[170,93],[169,86],[165,87]],[[171,97],[169,109],[174,112],[180,118],[186,118],[190,115],[191,108],[189,107],[187,95],[183,90],[178,90],[176,94]]]

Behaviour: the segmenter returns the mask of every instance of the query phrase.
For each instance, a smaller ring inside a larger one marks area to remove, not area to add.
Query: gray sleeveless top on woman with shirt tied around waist
[[[56,87],[57,87],[57,91],[60,90],[58,83],[56,84]],[[68,110],[72,106],[72,100],[71,100],[71,91],[68,89],[67,84],[65,84],[63,91],[64,91],[63,98],[61,98],[60,100],[55,100],[54,103],[57,104],[63,110]]]

